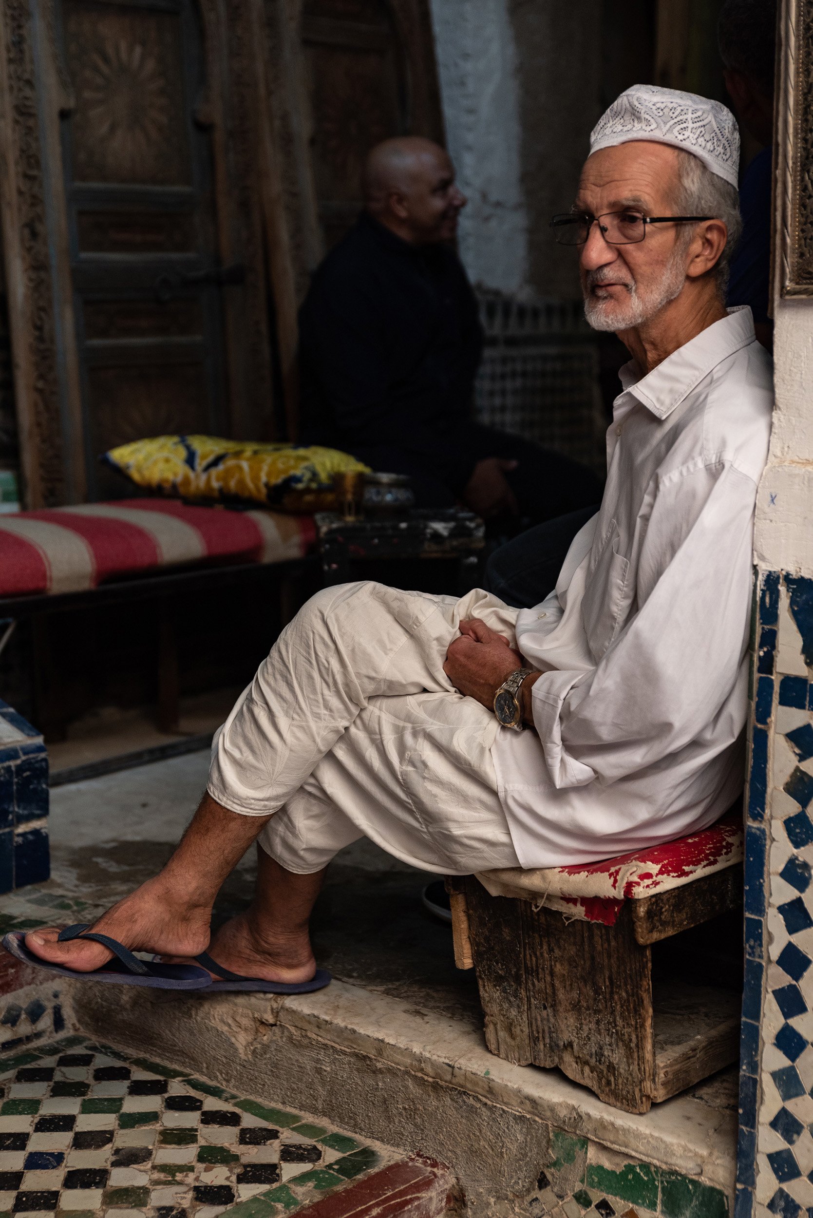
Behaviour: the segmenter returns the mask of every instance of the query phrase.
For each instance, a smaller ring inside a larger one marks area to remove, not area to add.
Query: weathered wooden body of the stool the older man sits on
[[[627,900],[615,926],[448,877],[455,963],[475,968],[486,1044],[520,1066],[557,1066],[607,1104],[647,1112],[736,1061],[734,990],[652,990],[652,944],[742,904],[742,868]],[[585,978],[589,982],[585,983]]]

